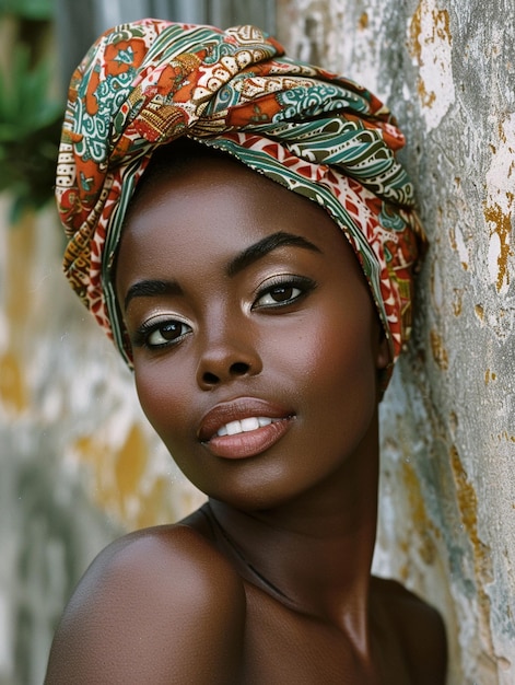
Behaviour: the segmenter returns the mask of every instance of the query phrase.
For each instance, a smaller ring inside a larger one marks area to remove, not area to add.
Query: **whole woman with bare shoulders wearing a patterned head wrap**
[[[209,500],[101,553],[47,683],[444,682],[437,613],[371,577],[377,404],[423,246],[402,144],[371,93],[255,27],[144,20],[90,50],[67,276]]]

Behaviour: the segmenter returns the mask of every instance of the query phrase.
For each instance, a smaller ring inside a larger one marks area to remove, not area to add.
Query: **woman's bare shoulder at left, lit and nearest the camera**
[[[186,525],[140,531],[87,569],[45,682],[236,682],[244,622],[243,583],[208,539]]]

